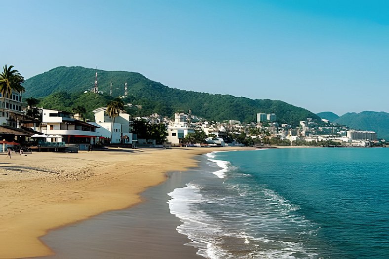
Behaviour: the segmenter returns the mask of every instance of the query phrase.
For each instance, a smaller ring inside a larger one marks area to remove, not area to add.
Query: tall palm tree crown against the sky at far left
[[[12,91],[24,92],[25,89],[21,85],[24,82],[23,76],[16,69],[12,70],[13,66],[3,67],[3,72],[0,74],[0,92],[2,96],[11,95]]]

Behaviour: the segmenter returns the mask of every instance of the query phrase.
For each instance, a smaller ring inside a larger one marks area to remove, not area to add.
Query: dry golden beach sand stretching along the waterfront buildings
[[[166,173],[195,167],[197,154],[239,148],[172,148],[0,155],[0,258],[53,255],[48,230],[141,202]]]

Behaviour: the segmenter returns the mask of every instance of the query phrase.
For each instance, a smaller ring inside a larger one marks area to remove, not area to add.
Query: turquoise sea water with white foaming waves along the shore
[[[168,193],[209,259],[389,258],[389,148],[212,152]]]

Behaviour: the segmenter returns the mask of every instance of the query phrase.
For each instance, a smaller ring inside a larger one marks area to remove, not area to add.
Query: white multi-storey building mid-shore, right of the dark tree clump
[[[190,127],[189,116],[184,112],[176,112],[174,114],[174,122],[170,122],[167,126],[167,142],[172,146],[181,145],[181,140],[188,135],[194,133],[194,128]]]

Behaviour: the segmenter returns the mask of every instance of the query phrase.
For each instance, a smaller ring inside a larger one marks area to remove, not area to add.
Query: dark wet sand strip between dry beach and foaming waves
[[[193,179],[193,171],[174,172],[161,185],[141,194],[145,201],[129,209],[111,211],[58,230],[42,241],[54,256],[40,259],[201,259],[191,242],[179,234],[182,222],[170,214],[167,193]]]

